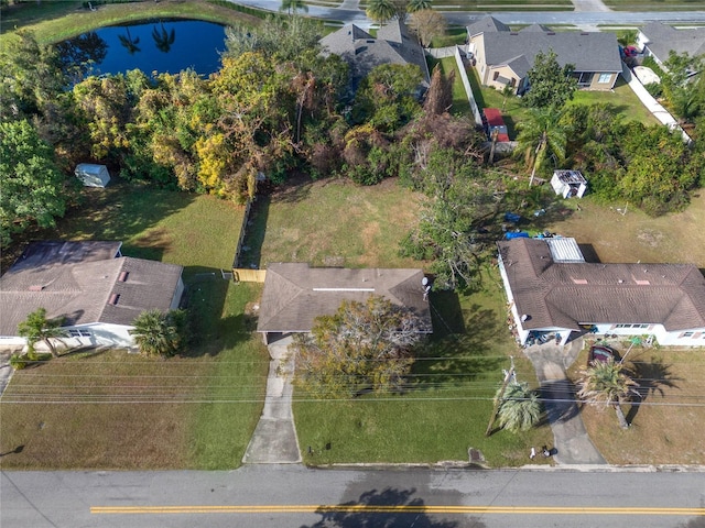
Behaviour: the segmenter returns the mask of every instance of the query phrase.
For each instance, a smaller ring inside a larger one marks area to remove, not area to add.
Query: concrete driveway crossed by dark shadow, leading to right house
[[[549,424],[553,430],[553,457],[561,465],[607,464],[587,436],[575,402],[575,388],[565,376],[565,370],[574,362],[583,340],[577,339],[565,346],[553,342],[524,349],[531,360],[543,393]]]

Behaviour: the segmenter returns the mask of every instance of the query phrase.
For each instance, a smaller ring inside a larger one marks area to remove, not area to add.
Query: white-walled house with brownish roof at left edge
[[[37,308],[61,318],[69,346],[132,346],[144,310],[178,307],[182,266],[122,256],[121,242],[30,244],[0,277],[0,345],[24,344],[18,324]]]

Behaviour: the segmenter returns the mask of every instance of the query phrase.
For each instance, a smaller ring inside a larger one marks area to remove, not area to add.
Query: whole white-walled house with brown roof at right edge
[[[517,339],[586,333],[646,336],[705,346],[705,277],[691,264],[585,262],[574,239],[498,242]]]

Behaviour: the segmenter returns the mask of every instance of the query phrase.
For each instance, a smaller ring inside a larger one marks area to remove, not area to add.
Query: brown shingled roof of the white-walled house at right
[[[527,330],[597,323],[705,327],[705,277],[691,264],[554,262],[545,240],[498,243]]]

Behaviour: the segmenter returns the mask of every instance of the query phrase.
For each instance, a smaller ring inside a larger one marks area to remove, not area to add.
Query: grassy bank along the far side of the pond
[[[245,12],[240,12],[245,11]],[[2,10],[2,36],[14,28],[32,30],[40,43],[59,42],[97,28],[149,19],[195,19],[219,24],[258,23],[257,10],[228,6],[227,2],[161,0],[83,8],[83,1],[29,2]]]

